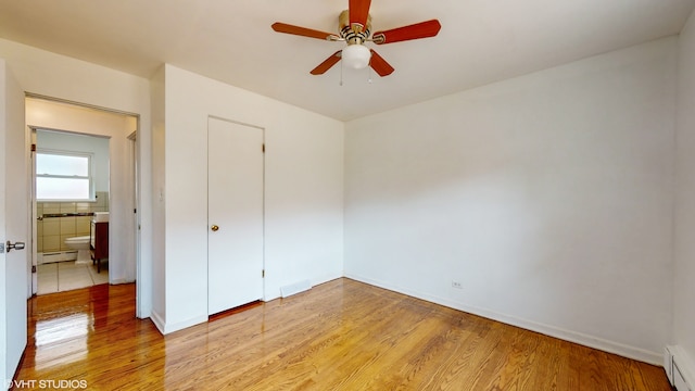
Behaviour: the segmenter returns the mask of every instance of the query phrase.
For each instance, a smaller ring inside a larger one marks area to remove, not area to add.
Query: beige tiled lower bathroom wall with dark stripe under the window
[[[109,192],[98,191],[97,202],[37,202],[37,216],[56,213],[109,212]],[[91,216],[43,217],[37,220],[37,252],[70,250],[65,238],[88,236]]]

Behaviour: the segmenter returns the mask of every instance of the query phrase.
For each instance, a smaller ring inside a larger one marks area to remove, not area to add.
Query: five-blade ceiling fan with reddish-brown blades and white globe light
[[[439,34],[440,25],[438,20],[420,22],[408,26],[376,31],[371,35],[371,15],[369,7],[371,0],[349,0],[349,9],[341,12],[338,17],[340,35],[324,33],[312,28],[293,26],[286,23],[276,22],[273,29],[278,33],[299,35],[303,37],[325,39],[329,41],[344,41],[348,46],[334,52],[317,67],[312,70],[312,75],[323,75],[340,60],[343,65],[353,68],[364,68],[371,66],[379,76],[388,76],[394,68],[374,49],[367,48],[365,42],[376,45],[401,42],[410,39],[434,37]],[[371,35],[371,36],[370,36]]]

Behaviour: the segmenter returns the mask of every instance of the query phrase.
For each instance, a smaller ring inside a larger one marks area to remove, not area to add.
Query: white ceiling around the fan
[[[376,46],[395,72],[309,71],[344,43],[348,0],[0,0],[0,37],[149,77],[162,64],[349,121],[678,34],[695,0],[372,0],[372,30],[439,18],[434,38]]]

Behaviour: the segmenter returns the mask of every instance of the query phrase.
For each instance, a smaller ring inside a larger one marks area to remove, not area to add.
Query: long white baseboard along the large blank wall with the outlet
[[[388,289],[399,293],[407,294],[417,299],[426,300],[435,304],[444,305],[454,310],[463,311],[469,314],[482,316],[492,320],[497,320],[507,325],[520,327],[527,330],[540,332],[549,337],[558,338],[565,341],[574,342],[584,346],[598,349],[604,352],[615,353],[623,357],[633,358],[644,363],[662,366],[664,354],[650,352],[644,349],[626,345],[619,342],[609,341],[603,338],[589,336],[585,333],[563,329],[555,326],[548,326],[536,321],[522,319],[516,316],[501,314],[486,308],[480,308],[465,303],[456,302],[451,299],[439,298],[432,294],[422,293],[406,289],[403,287],[396,287],[383,281],[377,281],[370,278],[366,278],[358,275],[345,274],[346,278],[351,278],[357,281],[369,283],[379,288]]]

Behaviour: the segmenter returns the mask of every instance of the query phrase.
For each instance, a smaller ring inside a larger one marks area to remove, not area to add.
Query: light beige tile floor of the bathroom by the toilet
[[[38,267],[37,294],[63,292],[73,289],[109,283],[109,263],[101,263],[101,273],[97,265],[79,264],[75,261],[42,264]]]

